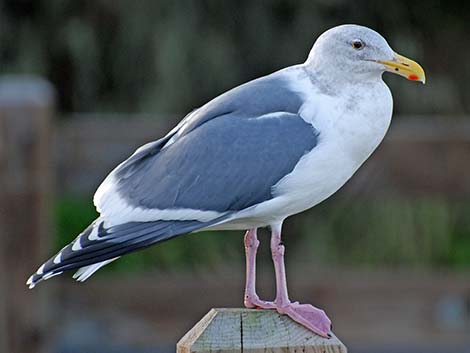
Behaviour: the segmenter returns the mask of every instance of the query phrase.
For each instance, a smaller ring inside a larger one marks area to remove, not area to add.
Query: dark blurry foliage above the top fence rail
[[[407,113],[470,111],[470,3],[457,0],[3,0],[0,74],[36,73],[63,112],[184,114],[304,61],[342,23],[370,26],[421,62],[423,88],[388,75]]]

